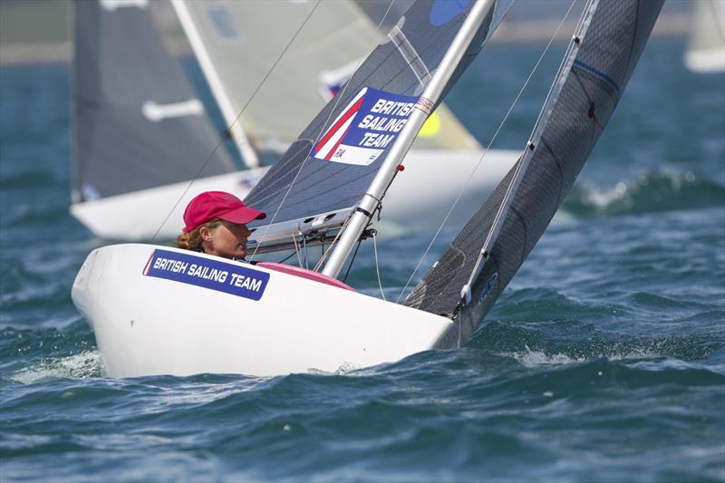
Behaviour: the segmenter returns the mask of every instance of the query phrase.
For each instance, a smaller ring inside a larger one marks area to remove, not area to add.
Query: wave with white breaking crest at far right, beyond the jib
[[[725,187],[691,171],[650,171],[611,188],[575,185],[563,209],[575,217],[655,213],[725,206]]]

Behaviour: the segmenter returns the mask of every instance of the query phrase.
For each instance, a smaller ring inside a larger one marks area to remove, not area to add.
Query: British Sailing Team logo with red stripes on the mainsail
[[[314,146],[315,159],[367,166],[391,146],[417,97],[363,87]]]

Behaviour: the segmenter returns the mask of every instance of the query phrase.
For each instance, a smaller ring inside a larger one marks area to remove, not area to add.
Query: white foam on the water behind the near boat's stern
[[[21,384],[32,384],[46,379],[100,377],[104,373],[101,353],[85,351],[58,359],[43,359],[15,372],[9,379]]]

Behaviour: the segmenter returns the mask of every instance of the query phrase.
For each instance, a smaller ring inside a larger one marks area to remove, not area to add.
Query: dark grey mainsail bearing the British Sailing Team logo
[[[494,2],[495,7],[480,25],[446,91],[468,67],[511,3]],[[449,50],[471,5],[423,0],[413,5],[343,90],[275,162],[247,196],[247,202],[272,214],[273,222],[310,217],[358,203],[417,96],[430,82],[431,72]],[[375,111],[379,107],[376,101],[383,102],[382,111]],[[381,115],[355,117],[361,111]],[[355,120],[352,124],[351,119]],[[374,124],[372,128],[366,124],[368,120]],[[366,132],[362,132],[362,125],[368,129]],[[349,136],[359,138],[348,142]]]

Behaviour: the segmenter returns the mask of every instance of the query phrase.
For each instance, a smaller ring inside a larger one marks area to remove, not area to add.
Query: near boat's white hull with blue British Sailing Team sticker
[[[163,261],[175,257],[189,265]],[[215,282],[203,266],[229,273]],[[249,285],[247,295],[224,292],[242,285],[239,270],[247,280],[268,279]],[[452,327],[445,317],[299,276],[140,244],[92,251],[73,283],[73,303],[92,325],[111,377],[336,372],[429,349]]]

